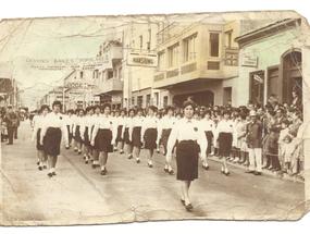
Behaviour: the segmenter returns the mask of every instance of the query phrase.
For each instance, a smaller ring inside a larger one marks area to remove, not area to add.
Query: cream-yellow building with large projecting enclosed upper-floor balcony
[[[165,89],[161,102],[182,106],[190,96],[198,104],[225,104],[233,100],[238,77],[240,23],[170,25],[158,34],[159,66],[154,87]],[[166,35],[173,35],[166,36]]]

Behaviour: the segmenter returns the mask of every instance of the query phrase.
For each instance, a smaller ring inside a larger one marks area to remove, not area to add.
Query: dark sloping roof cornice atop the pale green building
[[[273,35],[278,30],[287,28],[288,26],[296,26],[296,23],[300,25],[301,19],[284,19],[236,37],[235,41],[243,46],[248,41]]]

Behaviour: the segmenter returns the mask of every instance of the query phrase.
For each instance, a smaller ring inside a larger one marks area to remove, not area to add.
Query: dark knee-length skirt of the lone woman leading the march
[[[194,181],[198,178],[199,145],[194,140],[182,140],[176,146],[176,178]]]

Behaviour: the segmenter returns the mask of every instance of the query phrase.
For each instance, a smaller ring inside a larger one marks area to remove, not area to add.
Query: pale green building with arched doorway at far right
[[[271,95],[290,103],[293,90],[302,95],[302,24],[300,19],[281,20],[236,38],[240,47],[239,104],[265,104]]]

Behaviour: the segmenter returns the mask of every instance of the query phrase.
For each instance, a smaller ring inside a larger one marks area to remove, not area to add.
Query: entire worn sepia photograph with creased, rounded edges
[[[2,19],[0,224],[299,220],[309,77],[295,11]]]

